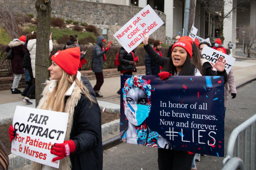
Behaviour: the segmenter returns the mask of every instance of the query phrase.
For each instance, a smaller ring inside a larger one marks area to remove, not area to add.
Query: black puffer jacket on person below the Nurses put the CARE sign
[[[133,53],[135,53],[135,51],[132,51]],[[133,59],[133,55],[132,53],[128,53],[125,51],[124,47],[121,47],[120,51],[119,51],[119,62],[120,65],[117,68],[117,71],[128,71],[128,70],[132,70],[132,71],[136,71],[136,67],[135,65],[129,64],[130,61],[134,61]]]

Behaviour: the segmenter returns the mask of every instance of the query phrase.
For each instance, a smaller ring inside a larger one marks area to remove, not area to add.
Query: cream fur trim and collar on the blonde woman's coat
[[[81,81],[81,74],[78,71],[77,76],[79,81]],[[50,93],[53,91],[53,89],[56,87],[57,80],[46,80],[46,86],[44,88],[44,91],[42,93],[43,97],[39,101],[39,104],[37,108],[43,108],[46,103],[48,102]],[[68,124],[67,124],[67,132],[64,138],[64,141],[68,141],[70,139],[70,133],[72,129],[73,124],[73,115],[74,115],[74,108],[78,104],[79,99],[81,98],[82,90],[78,87],[78,85],[74,82],[71,87],[68,89],[66,96],[69,96],[66,104],[65,104],[65,110],[64,112],[68,112]],[[56,156],[57,157],[57,156]],[[33,170],[41,170],[42,164],[31,161],[31,167]],[[60,160],[60,167],[61,170],[69,170],[71,169],[71,161],[69,156],[64,157]],[[51,169],[54,169],[53,167],[50,167]]]

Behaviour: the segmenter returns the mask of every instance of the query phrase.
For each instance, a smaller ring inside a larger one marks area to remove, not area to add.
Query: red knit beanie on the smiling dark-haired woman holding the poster
[[[192,56],[192,44],[193,44],[193,40],[191,37],[188,38],[188,36],[183,36],[180,37],[180,39],[173,44],[173,48],[176,47],[176,46],[179,46],[179,47],[182,47],[184,48],[188,55],[190,56],[190,59],[191,59],[191,56]],[[172,48],[172,51],[173,51],[173,48]]]

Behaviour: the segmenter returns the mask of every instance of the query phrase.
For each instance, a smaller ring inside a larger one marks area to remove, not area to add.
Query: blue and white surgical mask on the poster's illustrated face
[[[124,114],[126,115],[128,121],[139,126],[148,117],[149,106],[143,104],[125,104]]]

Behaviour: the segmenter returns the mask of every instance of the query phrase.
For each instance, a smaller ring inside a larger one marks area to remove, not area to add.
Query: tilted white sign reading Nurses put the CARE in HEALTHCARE
[[[113,36],[129,53],[144,40],[144,34],[151,35],[162,24],[161,18],[147,5]]]

